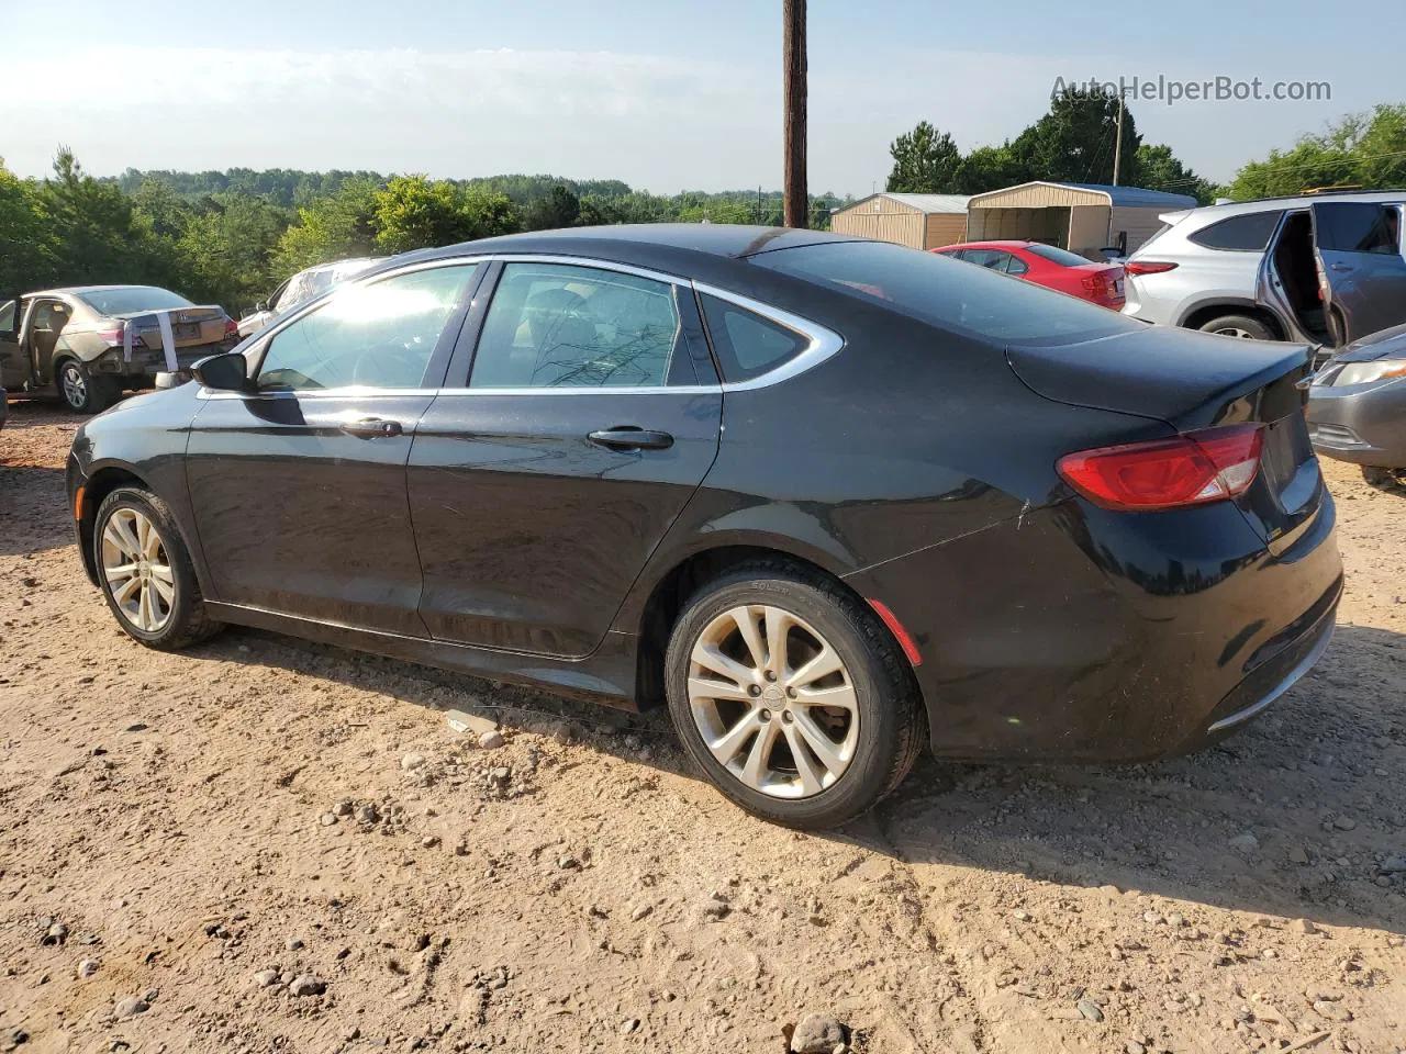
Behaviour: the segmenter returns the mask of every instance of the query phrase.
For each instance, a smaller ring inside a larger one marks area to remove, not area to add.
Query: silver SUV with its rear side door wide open
[[[1406,191],[1319,193],[1168,212],[1125,264],[1146,322],[1336,349],[1406,322]]]

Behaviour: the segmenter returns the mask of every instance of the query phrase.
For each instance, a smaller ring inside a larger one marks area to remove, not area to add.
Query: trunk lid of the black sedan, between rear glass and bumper
[[[1271,344],[1160,326],[1059,347],[1007,349],[1021,381],[1054,402],[1166,422],[1178,433],[1264,427],[1260,471],[1234,499],[1271,549],[1288,548],[1323,505],[1303,408],[1306,344]]]

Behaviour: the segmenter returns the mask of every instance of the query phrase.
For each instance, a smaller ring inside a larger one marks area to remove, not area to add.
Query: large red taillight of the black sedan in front
[[[1260,469],[1260,424],[1230,424],[1166,440],[1067,454],[1056,467],[1094,505],[1153,512],[1223,502],[1250,489]]]

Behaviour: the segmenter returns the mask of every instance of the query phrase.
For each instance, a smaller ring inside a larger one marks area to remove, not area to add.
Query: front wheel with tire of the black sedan
[[[93,562],[117,624],[148,648],[186,648],[221,628],[205,610],[176,520],[156,495],[124,486],[103,499]]]

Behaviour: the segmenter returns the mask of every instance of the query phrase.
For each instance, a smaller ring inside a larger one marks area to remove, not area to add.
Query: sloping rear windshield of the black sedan
[[[884,242],[773,249],[752,263],[1001,343],[1067,344],[1146,325],[984,267]]]

